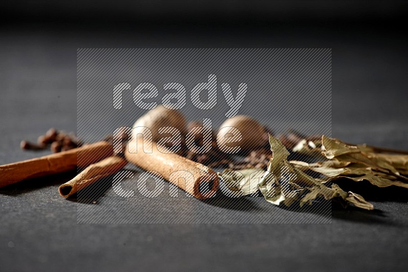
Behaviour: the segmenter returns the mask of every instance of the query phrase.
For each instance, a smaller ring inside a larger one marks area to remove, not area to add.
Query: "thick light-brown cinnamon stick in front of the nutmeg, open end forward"
[[[125,149],[128,161],[146,171],[154,171],[153,174],[160,174],[165,180],[179,186],[190,195],[198,199],[207,199],[217,192],[219,179],[210,168],[174,153],[162,153],[154,142],[151,153],[143,151],[143,139],[134,139],[128,145],[129,147]],[[138,152],[131,153],[129,150]],[[201,183],[208,183],[211,188],[207,192],[200,192],[204,191],[205,187],[200,186]]]

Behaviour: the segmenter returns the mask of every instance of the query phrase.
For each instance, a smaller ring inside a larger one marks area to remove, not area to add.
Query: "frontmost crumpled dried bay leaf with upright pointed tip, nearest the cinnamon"
[[[245,169],[241,170],[241,173],[224,171],[221,177],[228,188],[232,191],[244,192],[244,194],[254,193],[259,188],[265,199],[274,205],[290,206],[299,200],[301,205],[311,204],[312,200],[323,196],[327,200],[341,198],[348,204],[373,209],[372,205],[361,196],[351,192],[346,193],[337,185],[331,188],[326,187],[321,180],[315,179],[296,168],[287,160],[290,154],[288,150],[272,135],[269,135],[269,143],[273,154],[268,169],[264,171],[259,183],[256,178],[252,178],[253,173],[260,173],[257,169]]]

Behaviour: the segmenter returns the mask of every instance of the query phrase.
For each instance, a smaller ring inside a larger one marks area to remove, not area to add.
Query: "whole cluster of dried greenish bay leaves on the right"
[[[323,197],[338,200],[344,205],[373,209],[373,205],[362,196],[345,192],[339,185],[333,184],[339,178],[368,180],[379,187],[395,185],[408,188],[408,155],[382,154],[368,146],[349,145],[325,136],[321,139],[321,143],[302,139],[293,145],[295,152],[321,160],[308,163],[288,161],[289,151],[281,141],[269,135],[273,153],[267,171],[257,168],[226,169],[219,174],[220,178],[231,191],[240,195],[259,190],[268,202],[286,206],[312,204],[313,200]]]

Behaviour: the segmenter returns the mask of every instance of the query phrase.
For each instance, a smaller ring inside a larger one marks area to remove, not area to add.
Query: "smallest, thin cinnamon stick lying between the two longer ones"
[[[121,157],[107,157],[85,168],[79,175],[62,184],[58,191],[62,197],[69,197],[99,179],[117,173],[126,165],[127,161]]]

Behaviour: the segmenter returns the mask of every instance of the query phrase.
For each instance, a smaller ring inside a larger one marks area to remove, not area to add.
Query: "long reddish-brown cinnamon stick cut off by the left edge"
[[[112,145],[101,141],[68,151],[0,166],[0,187],[18,181],[87,167],[111,156]]]

